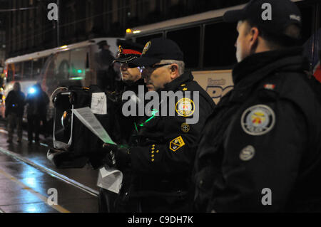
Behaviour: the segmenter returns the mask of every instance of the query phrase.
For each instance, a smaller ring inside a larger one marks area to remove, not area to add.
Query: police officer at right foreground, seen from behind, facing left
[[[195,208],[321,211],[321,107],[296,46],[299,9],[255,0],[224,19],[238,21],[239,63],[200,141]]]

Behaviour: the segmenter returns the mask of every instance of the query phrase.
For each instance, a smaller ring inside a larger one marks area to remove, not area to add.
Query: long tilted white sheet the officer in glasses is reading
[[[76,117],[78,117],[78,119],[83,123],[83,125],[88,127],[88,130],[91,130],[93,134],[96,134],[99,139],[108,144],[116,144],[103,128],[101,122],[99,122],[95,115],[93,115],[91,108],[84,107],[80,109],[73,109],[72,111],[73,114],[76,115]]]

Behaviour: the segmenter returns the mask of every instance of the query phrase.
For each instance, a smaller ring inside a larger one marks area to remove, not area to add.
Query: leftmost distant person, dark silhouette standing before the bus
[[[17,128],[18,140],[22,139],[22,117],[24,115],[24,93],[21,92],[19,82],[14,83],[14,90],[11,90],[6,97],[5,116],[8,120],[8,140],[11,143],[14,137],[14,128]]]

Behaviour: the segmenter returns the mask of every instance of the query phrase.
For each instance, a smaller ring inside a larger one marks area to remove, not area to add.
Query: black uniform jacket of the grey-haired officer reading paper
[[[173,93],[181,91],[184,95],[190,91],[191,95],[189,98],[188,95],[185,96],[185,100],[175,100],[173,106],[167,106],[167,110],[171,108],[175,110],[175,116],[163,116],[159,110],[158,115],[155,113],[155,117],[146,117],[145,122],[142,122],[138,132],[138,144],[130,150],[131,169],[134,175],[133,196],[148,196],[154,192],[155,194],[173,192],[175,196],[180,196],[180,192],[186,192],[200,132],[215,107],[213,100],[193,80],[191,73],[180,75],[158,91],[158,94],[161,95],[162,91],[173,91]],[[198,100],[195,95],[193,96],[193,92],[198,92]],[[195,107],[190,108],[193,104]],[[198,122],[186,123],[188,118],[195,117],[196,112],[199,113]],[[146,191],[151,194],[146,194]]]

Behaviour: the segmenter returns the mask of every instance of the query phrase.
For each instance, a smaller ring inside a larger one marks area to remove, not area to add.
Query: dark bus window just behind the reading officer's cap
[[[200,26],[168,31],[166,37],[175,41],[183,51],[186,68],[198,68],[200,56]]]

